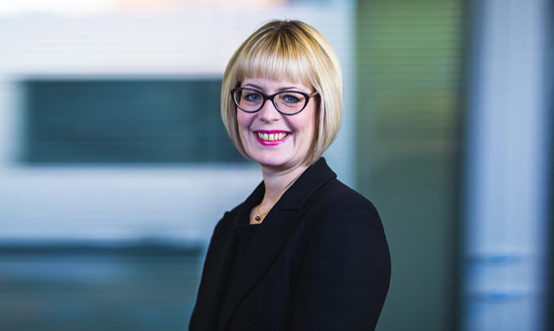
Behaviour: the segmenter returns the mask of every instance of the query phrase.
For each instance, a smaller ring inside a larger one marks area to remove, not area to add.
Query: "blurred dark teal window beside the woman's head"
[[[24,163],[239,163],[220,79],[23,82]]]

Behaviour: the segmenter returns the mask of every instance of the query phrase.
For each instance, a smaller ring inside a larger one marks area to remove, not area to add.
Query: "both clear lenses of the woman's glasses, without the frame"
[[[247,89],[235,91],[235,102],[237,105],[246,111],[257,111],[262,108],[264,97],[257,91],[251,91]],[[301,93],[296,92],[283,92],[278,93],[274,102],[284,114],[294,114],[301,111],[306,103],[306,97]]]

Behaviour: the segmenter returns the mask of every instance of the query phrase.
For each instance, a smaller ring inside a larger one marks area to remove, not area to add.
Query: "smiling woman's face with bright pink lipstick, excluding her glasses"
[[[267,95],[285,90],[308,94],[314,92],[313,88],[300,83],[276,82],[265,78],[246,79],[241,87],[257,89]],[[237,120],[244,150],[262,167],[283,171],[307,163],[316,132],[314,98],[310,98],[306,107],[298,114],[283,115],[267,100],[262,109],[253,114],[237,109]]]

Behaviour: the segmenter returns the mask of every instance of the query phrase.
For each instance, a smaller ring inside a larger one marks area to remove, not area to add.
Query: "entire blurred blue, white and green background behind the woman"
[[[0,0],[0,330],[186,330],[262,179],[219,99],[270,19],[341,59],[325,158],[384,222],[377,330],[554,330],[552,2]]]

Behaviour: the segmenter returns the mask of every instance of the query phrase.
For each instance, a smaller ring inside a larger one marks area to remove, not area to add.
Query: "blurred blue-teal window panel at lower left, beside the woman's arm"
[[[203,258],[163,242],[0,244],[0,330],[187,330]]]

